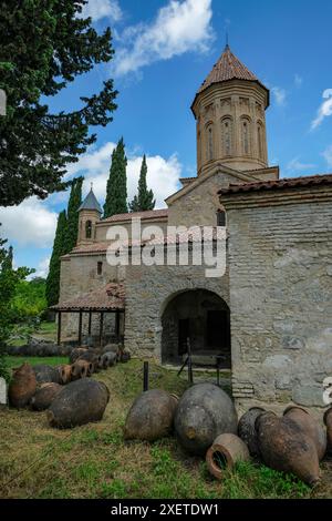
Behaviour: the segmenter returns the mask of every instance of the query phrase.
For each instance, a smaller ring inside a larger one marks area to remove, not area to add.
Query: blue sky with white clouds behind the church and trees
[[[79,96],[114,78],[120,91],[114,122],[94,129],[97,142],[70,175],[94,182],[101,203],[114,143],[123,135],[128,192],[137,185],[142,154],[158,206],[178,176],[196,174],[190,104],[229,33],[234,53],[271,90],[267,111],[270,164],[282,176],[332,172],[332,2],[330,0],[90,0],[96,29],[111,25],[116,58],[50,101],[80,106]],[[45,274],[56,215],[68,194],[0,208],[2,234],[17,265]]]

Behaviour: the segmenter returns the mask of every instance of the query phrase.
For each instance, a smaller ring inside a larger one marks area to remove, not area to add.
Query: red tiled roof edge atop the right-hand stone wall
[[[332,184],[332,174],[310,175],[302,177],[288,177],[282,180],[259,181],[256,183],[230,184],[228,188],[219,190],[220,195],[232,195],[264,190],[299,188],[301,186],[317,186]]]

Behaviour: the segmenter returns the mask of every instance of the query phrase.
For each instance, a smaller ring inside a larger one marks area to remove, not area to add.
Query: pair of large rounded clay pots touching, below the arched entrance
[[[175,430],[180,446],[205,454],[220,432],[237,431],[237,413],[229,396],[211,384],[197,384],[181,398],[162,389],[143,392],[128,411],[125,439],[154,441]]]

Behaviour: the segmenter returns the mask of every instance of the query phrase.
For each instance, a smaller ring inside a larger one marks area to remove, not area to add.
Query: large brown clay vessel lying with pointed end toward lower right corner
[[[256,420],[258,445],[264,463],[274,470],[292,472],[313,486],[320,479],[319,458],[313,440],[287,416],[263,412]]]

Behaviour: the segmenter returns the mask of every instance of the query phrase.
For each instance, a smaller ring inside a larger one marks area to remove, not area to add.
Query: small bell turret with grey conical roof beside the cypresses
[[[91,190],[79,208],[79,237],[77,245],[91,244],[95,241],[95,225],[103,213],[96,196]]]

